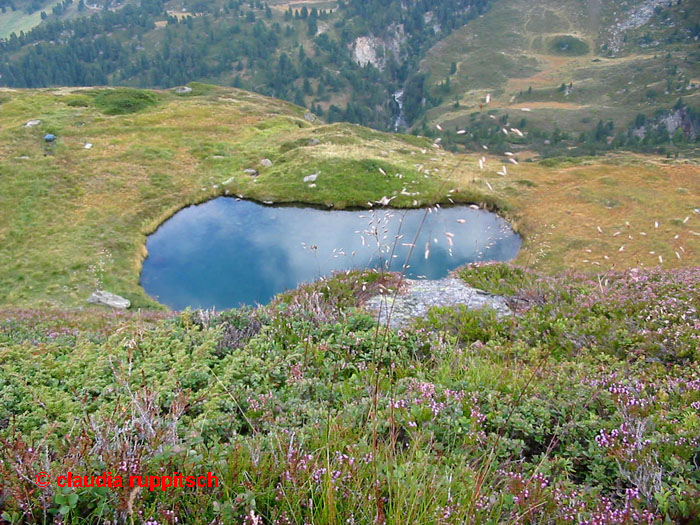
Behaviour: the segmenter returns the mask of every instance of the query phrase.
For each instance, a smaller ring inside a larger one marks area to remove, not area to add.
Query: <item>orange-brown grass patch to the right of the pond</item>
[[[656,266],[659,256],[665,267],[697,264],[697,164],[625,155],[548,165],[509,164],[506,177],[488,176],[526,235],[516,262],[595,272]]]

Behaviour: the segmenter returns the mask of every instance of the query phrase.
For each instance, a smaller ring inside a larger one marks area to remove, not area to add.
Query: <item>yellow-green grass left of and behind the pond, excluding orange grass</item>
[[[342,208],[408,186],[421,204],[445,199],[440,179],[417,173],[416,164],[434,169],[445,157],[425,140],[312,125],[302,108],[243,91],[193,93],[1,93],[0,304],[83,304],[99,285],[135,307],[156,306],[138,286],[145,236],[183,206],[218,195]],[[41,124],[26,128],[30,119]],[[46,133],[57,141],[45,144]],[[273,166],[261,167],[263,158]],[[309,188],[303,178],[315,171]]]

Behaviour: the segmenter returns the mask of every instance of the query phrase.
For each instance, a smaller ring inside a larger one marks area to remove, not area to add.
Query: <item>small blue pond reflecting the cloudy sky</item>
[[[407,265],[410,278],[437,279],[473,261],[507,261],[520,248],[506,221],[464,206],[427,214],[327,211],[220,197],[181,210],[148,237],[141,285],[175,310],[264,304],[333,271],[379,265],[400,271],[424,217]]]

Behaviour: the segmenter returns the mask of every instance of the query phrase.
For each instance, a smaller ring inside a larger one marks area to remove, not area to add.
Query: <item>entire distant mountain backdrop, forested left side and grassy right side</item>
[[[444,122],[465,130],[445,137],[453,148],[697,153],[700,6],[689,0],[3,2],[1,85],[201,80],[329,122],[422,134]],[[685,125],[668,120],[677,104]],[[502,144],[502,124],[524,128],[522,140]]]

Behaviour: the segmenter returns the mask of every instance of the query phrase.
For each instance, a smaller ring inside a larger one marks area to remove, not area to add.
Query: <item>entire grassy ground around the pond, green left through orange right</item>
[[[195,96],[159,93],[156,106],[122,116],[95,107],[96,93],[0,93],[0,304],[82,304],[99,277],[135,306],[154,306],[138,286],[145,236],[179,208],[221,194],[339,208],[403,188],[420,192],[418,204],[443,202],[456,189],[457,200],[497,204],[514,219],[526,236],[519,257],[525,264],[654,265],[657,255],[648,252],[655,251],[675,266],[700,256],[692,233],[700,230],[692,211],[700,193],[696,165],[521,163],[499,177],[493,172],[500,164],[491,160],[479,172],[474,157],[455,157],[423,139],[310,124],[302,108],[243,91],[196,86]],[[41,125],[24,127],[32,118]],[[59,137],[50,147],[42,140],[47,132]],[[86,142],[92,149],[84,149]],[[263,158],[273,166],[262,168]],[[246,168],[260,176],[245,175]],[[317,187],[309,188],[302,179],[316,171]],[[403,179],[392,176],[399,172]],[[399,195],[393,203],[413,200]],[[623,243],[612,235],[625,221],[635,235]]]

